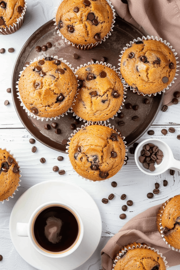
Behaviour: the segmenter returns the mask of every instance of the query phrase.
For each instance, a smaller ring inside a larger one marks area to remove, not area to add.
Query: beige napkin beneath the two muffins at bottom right
[[[167,265],[180,264],[180,253],[168,247],[156,225],[156,216],[161,204],[153,206],[128,221],[101,250],[103,270],[112,270],[113,261],[122,247],[133,242],[145,243],[158,249],[166,257]]]

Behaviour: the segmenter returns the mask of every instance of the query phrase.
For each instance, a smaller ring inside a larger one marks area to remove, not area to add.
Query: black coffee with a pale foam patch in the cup
[[[78,223],[70,211],[53,206],[38,215],[34,224],[34,234],[41,247],[60,252],[69,248],[76,240]]]

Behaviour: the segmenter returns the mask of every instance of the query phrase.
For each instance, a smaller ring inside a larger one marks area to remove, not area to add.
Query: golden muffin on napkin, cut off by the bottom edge
[[[118,261],[114,270],[166,270],[164,261],[157,252],[147,248],[140,248],[140,245],[140,243],[127,245],[125,247],[127,249],[133,246],[135,248],[126,251],[120,259],[117,258]]]

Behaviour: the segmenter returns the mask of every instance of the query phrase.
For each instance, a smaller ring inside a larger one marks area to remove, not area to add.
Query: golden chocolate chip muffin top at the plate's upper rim
[[[56,14],[57,28],[73,43],[100,41],[110,31],[113,12],[106,0],[64,0]]]

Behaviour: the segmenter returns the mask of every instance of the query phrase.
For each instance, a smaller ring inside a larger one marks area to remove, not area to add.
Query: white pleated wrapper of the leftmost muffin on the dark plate
[[[49,55],[47,55],[47,57],[49,57]],[[62,61],[64,64],[66,64],[66,65],[72,70],[72,72],[73,72],[74,75],[75,75],[75,72],[73,71],[74,68],[72,68],[72,67],[71,67],[71,64],[69,64],[68,62],[66,62],[66,60],[63,60],[63,58],[58,58],[57,56],[54,56],[54,57],[53,57],[53,56],[50,56],[50,57]],[[39,61],[39,60],[43,60],[43,59],[45,59],[44,56],[38,56],[38,58],[35,58],[33,61],[30,62],[30,64],[32,64],[33,62]],[[26,67],[27,67],[27,66],[29,66],[29,65],[26,65]],[[21,77],[21,75],[22,75],[23,71],[26,69],[26,67],[24,67],[23,70],[20,71],[19,77]],[[76,79],[77,79],[77,75],[75,75],[75,77],[76,77]],[[19,80],[20,80],[20,78],[19,78]],[[19,84],[19,80],[18,80],[18,82],[16,82],[17,84]],[[77,80],[77,81],[78,81],[78,80]],[[33,114],[32,112],[30,112],[30,111],[26,108],[26,106],[24,105],[24,103],[22,102],[22,99],[21,99],[21,96],[20,96],[20,93],[19,93],[19,87],[18,87],[18,85],[16,85],[16,88],[17,88],[16,91],[18,91],[18,92],[17,92],[18,99],[21,100],[21,104],[20,104],[20,105],[23,106],[23,109],[25,109],[25,111],[26,111],[26,113],[28,114],[28,116],[31,116],[31,117],[33,117],[33,118],[37,118],[37,120],[41,119],[41,121],[43,121],[43,120],[45,119],[45,120],[47,121],[48,119],[50,119],[50,120],[52,120],[52,119],[55,119],[55,120],[56,120],[56,119],[59,119],[60,116],[64,116],[65,114],[67,115],[67,113],[70,112],[71,107],[70,107],[66,112],[64,112],[64,113],[62,113],[62,114],[60,114],[60,115],[58,115],[58,116],[55,116],[55,117],[40,117],[40,116],[38,116],[38,115],[35,115],[35,114]],[[73,104],[74,104],[74,101],[75,101],[75,99],[74,99],[73,102],[72,102]],[[71,105],[71,106],[72,106],[72,105]]]

